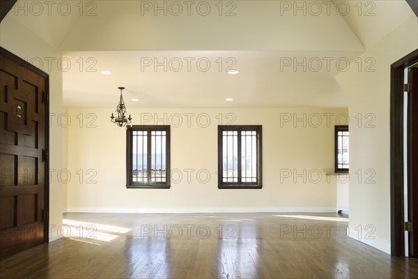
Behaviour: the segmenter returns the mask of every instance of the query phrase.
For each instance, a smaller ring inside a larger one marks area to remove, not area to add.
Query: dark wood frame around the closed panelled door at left
[[[44,209],[47,209],[47,216],[44,223],[44,243],[49,242],[49,75],[45,73],[43,70],[36,68],[28,61],[20,58],[19,56],[9,52],[3,47],[0,47],[0,54],[7,57],[14,63],[19,64],[20,66],[26,68],[27,70],[31,70],[32,72],[36,73],[45,78],[45,149],[47,150],[47,158],[45,160],[45,174],[44,174]]]

